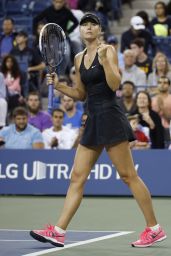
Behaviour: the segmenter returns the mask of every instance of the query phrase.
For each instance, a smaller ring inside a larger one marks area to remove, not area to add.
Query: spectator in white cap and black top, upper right
[[[131,28],[122,33],[121,36],[121,52],[124,52],[125,49],[129,49],[131,42],[139,37],[144,39],[144,51],[145,53],[148,53],[149,50],[154,48],[154,45],[150,32],[145,29],[143,19],[139,16],[134,16],[131,18],[130,24]]]

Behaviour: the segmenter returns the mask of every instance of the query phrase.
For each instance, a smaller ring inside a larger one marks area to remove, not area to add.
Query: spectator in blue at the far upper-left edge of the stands
[[[10,53],[14,47],[14,40],[14,20],[6,17],[2,23],[2,35],[0,36],[0,58]]]

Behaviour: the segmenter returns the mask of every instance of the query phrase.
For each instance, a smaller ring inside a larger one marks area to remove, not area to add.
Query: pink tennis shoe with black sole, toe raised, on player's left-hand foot
[[[65,241],[65,234],[60,234],[55,230],[55,226],[47,225],[43,230],[32,230],[30,235],[43,243],[51,243],[56,247],[63,247]]]

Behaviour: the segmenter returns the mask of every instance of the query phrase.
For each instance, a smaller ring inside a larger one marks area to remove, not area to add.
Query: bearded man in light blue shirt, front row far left
[[[42,149],[41,132],[28,124],[28,112],[23,107],[13,111],[14,123],[0,130],[1,144],[6,149]]]

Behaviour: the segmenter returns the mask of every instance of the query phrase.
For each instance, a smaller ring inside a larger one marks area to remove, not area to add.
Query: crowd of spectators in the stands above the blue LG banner
[[[18,0],[9,0],[17,2]],[[132,0],[133,1],[133,0]],[[130,19],[121,40],[111,33],[110,24],[122,16],[121,2],[103,0],[32,1],[43,5],[32,14],[32,32],[18,30],[15,15],[2,14],[0,34],[0,147],[16,149],[76,148],[87,118],[86,102],[76,102],[54,90],[52,113],[44,111],[48,96],[46,66],[38,47],[41,28],[59,24],[67,37],[65,59],[59,80],[76,84],[74,56],[84,49],[79,21],[85,12],[99,16],[99,40],[118,53],[121,73],[118,104],[135,133],[132,149],[171,149],[171,52],[161,42],[171,37],[171,1],[159,1],[150,20],[144,10]],[[4,2],[4,1],[3,1]],[[6,1],[8,2],[8,0]],[[48,2],[48,5],[47,5]],[[25,0],[30,7],[30,1]],[[45,4],[46,3],[46,4]],[[40,5],[41,6],[41,5]],[[4,6],[5,7],[5,2]],[[30,11],[31,12],[31,11]],[[159,41],[160,40],[160,41]],[[160,43],[158,43],[160,42]],[[168,46],[169,47],[169,46]]]

